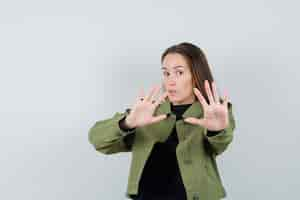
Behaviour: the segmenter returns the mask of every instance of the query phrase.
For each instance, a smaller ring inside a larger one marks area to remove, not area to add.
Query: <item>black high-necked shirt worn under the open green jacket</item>
[[[173,105],[171,111],[176,120],[182,119],[182,114],[192,104]],[[175,126],[167,140],[157,142],[146,162],[136,200],[186,200],[186,191],[182,182],[177,163],[176,147],[178,137]]]

